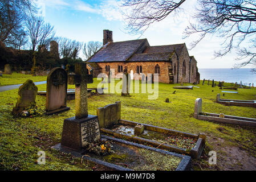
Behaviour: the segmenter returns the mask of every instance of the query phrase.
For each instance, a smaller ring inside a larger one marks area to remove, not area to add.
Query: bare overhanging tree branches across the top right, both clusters
[[[123,7],[133,10],[123,13],[127,20],[127,28],[133,34],[143,34],[151,23],[160,21],[170,13],[177,13],[185,1],[165,0],[124,0]],[[256,64],[256,1],[255,0],[198,0],[194,13],[196,23],[190,23],[184,32],[184,38],[198,34],[198,39],[190,44],[194,48],[206,35],[218,36],[224,41],[221,50],[214,53],[222,57],[236,49],[237,60],[235,68],[247,64]],[[247,47],[243,47],[246,44]]]

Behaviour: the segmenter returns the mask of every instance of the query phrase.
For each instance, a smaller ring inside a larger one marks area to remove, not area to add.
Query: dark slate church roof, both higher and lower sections
[[[114,42],[101,47],[87,63],[116,61],[169,61],[173,52],[180,55],[184,44],[149,46],[147,39]]]

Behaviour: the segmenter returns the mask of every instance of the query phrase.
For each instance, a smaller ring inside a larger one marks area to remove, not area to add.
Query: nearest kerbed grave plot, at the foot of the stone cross
[[[102,140],[109,140],[112,143],[114,154],[96,155],[87,150],[72,150],[71,148],[63,147],[56,144],[52,147],[54,150],[71,154],[80,159],[86,159],[91,162],[103,165],[109,169],[118,171],[148,171],[148,170],[169,170],[169,171],[186,171],[191,168],[191,157],[174,152],[169,152],[143,144],[129,142],[118,138],[101,135]],[[147,153],[146,153],[147,152]],[[145,156],[150,154],[150,156]],[[114,156],[114,158],[113,158]],[[120,156],[121,162],[115,159],[115,156]],[[158,163],[153,163],[153,159],[159,159]],[[165,160],[165,165],[162,164]],[[167,168],[165,168],[165,166]]]

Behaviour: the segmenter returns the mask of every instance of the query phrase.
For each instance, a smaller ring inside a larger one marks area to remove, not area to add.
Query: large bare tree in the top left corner
[[[16,47],[17,38],[24,37],[27,15],[35,12],[31,0],[0,0],[0,42]]]

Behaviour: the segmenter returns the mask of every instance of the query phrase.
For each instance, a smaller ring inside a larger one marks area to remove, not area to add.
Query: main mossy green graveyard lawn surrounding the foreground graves
[[[33,81],[35,79],[37,77],[32,77]],[[98,83],[99,81],[94,78],[94,83],[88,84],[88,88],[96,87]],[[216,83],[218,85],[218,82]],[[256,130],[249,127],[194,119],[194,102],[196,98],[200,97],[202,98],[202,111],[241,117],[256,118],[256,109],[217,104],[216,95],[222,90],[218,86],[212,88],[210,86],[212,84],[202,86],[201,81],[201,84],[196,85],[200,88],[193,88],[193,90],[173,89],[173,86],[177,85],[180,84],[160,83],[157,100],[148,100],[149,94],[142,93],[131,93],[131,97],[122,97],[121,93],[91,96],[88,99],[88,113],[96,115],[97,107],[121,101],[121,119],[194,134],[204,132],[207,136],[206,147],[202,158],[193,160],[194,170],[250,168],[248,161],[255,163],[256,157]],[[75,85],[68,85],[68,87],[75,88]],[[46,84],[38,85],[38,91],[42,90],[46,90]],[[174,90],[176,90],[176,94],[172,94]],[[81,159],[51,150],[51,146],[60,143],[63,120],[75,115],[75,100],[67,101],[67,106],[71,109],[58,115],[14,118],[11,115],[11,110],[17,102],[17,94],[18,89],[0,92],[1,170],[95,169],[94,163],[83,160],[81,164]],[[239,100],[255,100],[255,96],[256,88],[238,89],[238,94],[225,93],[225,96],[221,93],[221,98]],[[166,98],[169,98],[170,103],[165,102]],[[36,96],[36,105],[40,109],[45,109],[45,102],[44,96]],[[208,152],[212,150],[217,152],[217,166],[208,164]],[[230,150],[237,151],[239,154],[233,155]],[[38,151],[46,152],[46,164],[37,164]],[[242,159],[241,154],[247,157]]]

